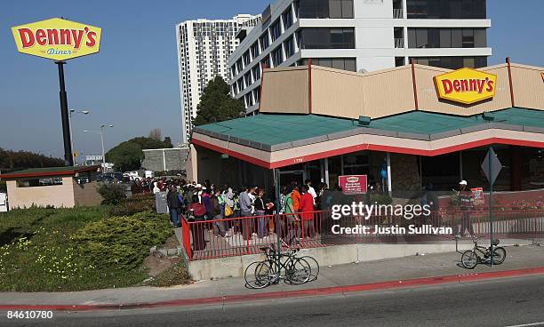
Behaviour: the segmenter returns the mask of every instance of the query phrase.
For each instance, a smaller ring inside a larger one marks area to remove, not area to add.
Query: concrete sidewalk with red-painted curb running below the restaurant
[[[461,278],[468,276],[466,280],[479,279],[490,272],[506,273],[487,275],[484,278],[506,275],[544,274],[544,247],[507,247],[506,250],[508,258],[502,265],[494,267],[478,265],[475,269],[468,270],[458,266],[460,265],[460,253],[437,253],[399,259],[382,259],[335,267],[321,267],[319,276],[314,282],[298,286],[280,283],[279,285],[269,286],[263,290],[246,289],[243,278],[226,278],[169,288],[145,286],[60,293],[2,292],[0,293],[0,309],[7,309],[11,305],[30,307],[53,306],[51,309],[55,309],[54,306],[81,306],[75,307],[75,309],[89,310],[100,308],[114,309],[114,306],[121,308],[121,306],[138,307],[139,305],[143,305],[141,307],[160,307],[163,305],[221,304],[226,299],[277,299],[293,296],[341,293],[342,291],[339,287],[343,286],[349,286],[349,290],[351,291],[368,291],[390,288],[391,284],[403,283],[401,281],[404,281],[404,285],[406,286],[444,282],[459,283]],[[516,273],[511,272],[518,269],[530,270]],[[484,275],[479,275],[482,273]],[[410,281],[415,279],[417,281]],[[348,290],[348,288],[341,289]],[[161,304],[157,302],[166,303]],[[57,307],[57,309],[68,310],[67,307]]]

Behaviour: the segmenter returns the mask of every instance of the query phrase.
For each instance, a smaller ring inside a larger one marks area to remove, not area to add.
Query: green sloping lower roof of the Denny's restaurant
[[[544,111],[507,108],[493,112],[492,116],[493,121],[487,122],[482,115],[452,116],[410,111],[372,119],[368,126],[360,126],[355,120],[332,116],[260,114],[197,126],[194,132],[268,151],[284,148],[280,145],[295,141],[324,136],[330,140],[339,133],[370,133],[416,140],[436,140],[445,134],[452,136],[492,127],[544,133]]]

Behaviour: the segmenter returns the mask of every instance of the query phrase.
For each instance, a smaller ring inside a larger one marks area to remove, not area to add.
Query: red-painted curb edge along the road
[[[322,287],[297,291],[272,291],[258,294],[228,295],[202,299],[174,299],[160,302],[142,302],[128,304],[99,304],[99,305],[0,305],[0,310],[55,310],[55,311],[95,311],[95,310],[124,310],[154,307],[191,307],[203,305],[219,305],[236,302],[249,302],[263,299],[289,299],[300,297],[323,296],[356,291],[379,291],[403,289],[415,286],[436,285],[442,283],[463,283],[478,280],[488,280],[503,277],[544,274],[544,267],[534,267],[516,270],[505,270],[488,273],[474,273],[461,275],[443,275],[425,278],[415,278],[380,283],[364,283],[348,286]]]

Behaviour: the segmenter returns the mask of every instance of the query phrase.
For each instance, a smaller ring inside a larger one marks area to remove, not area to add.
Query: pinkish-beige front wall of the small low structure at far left
[[[62,178],[62,185],[47,187],[17,187],[17,181],[7,181],[10,208],[28,208],[53,205],[55,208],[72,208],[75,205],[74,179],[71,176]]]

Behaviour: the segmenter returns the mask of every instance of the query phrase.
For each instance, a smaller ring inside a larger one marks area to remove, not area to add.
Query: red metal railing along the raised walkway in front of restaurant
[[[468,238],[469,234],[488,237],[489,220],[489,211],[431,211],[428,216],[413,219],[391,214],[372,215],[369,219],[352,215],[332,219],[332,211],[313,211],[281,214],[279,219],[276,215],[191,222],[182,219],[182,235],[188,258],[197,260],[260,253],[262,245],[277,243],[278,235],[281,242],[301,248],[350,243],[444,242],[459,235]],[[384,233],[387,230],[391,233]],[[493,211],[493,235],[501,238],[544,235],[544,208]]]

